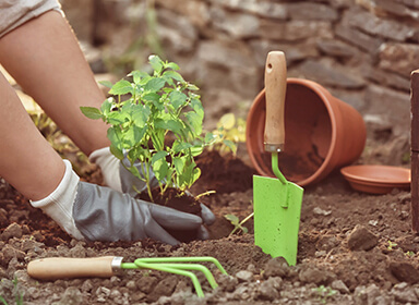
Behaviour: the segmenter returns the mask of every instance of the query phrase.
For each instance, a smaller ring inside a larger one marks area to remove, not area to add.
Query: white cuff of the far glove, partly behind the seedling
[[[109,147],[94,150],[88,160],[99,166],[104,183],[115,191],[122,192],[121,176],[119,173],[120,160],[110,152]]]

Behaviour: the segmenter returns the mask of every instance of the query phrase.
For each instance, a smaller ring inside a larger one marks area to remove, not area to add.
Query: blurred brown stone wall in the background
[[[283,50],[289,77],[315,81],[366,122],[395,136],[409,134],[410,72],[419,68],[418,0],[83,1],[84,8],[92,4],[84,9],[89,26],[80,25],[83,16],[71,11],[72,2],[63,1],[63,8],[79,37],[113,54],[127,54],[131,44],[131,53],[136,50],[134,57],[145,61],[158,47],[151,40],[157,34],[165,58],[201,87],[208,125],[223,112],[247,114],[263,88],[267,52]],[[141,42],[136,49],[133,41]]]

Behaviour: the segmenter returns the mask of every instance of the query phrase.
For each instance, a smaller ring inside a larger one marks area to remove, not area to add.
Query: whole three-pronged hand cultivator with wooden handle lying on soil
[[[123,269],[152,269],[173,274],[189,277],[192,280],[196,294],[204,296],[202,286],[196,276],[191,272],[201,271],[204,273],[210,285],[215,289],[218,286],[213,273],[201,264],[212,263],[218,270],[227,274],[219,261],[210,256],[201,257],[149,257],[139,258],[133,263],[122,263],[123,257],[104,256],[94,258],[67,258],[50,257],[33,260],[27,266],[27,273],[39,280],[58,280],[63,278],[108,278]]]

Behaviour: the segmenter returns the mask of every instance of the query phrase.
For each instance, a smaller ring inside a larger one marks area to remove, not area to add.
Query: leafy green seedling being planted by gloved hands
[[[148,58],[153,73],[133,71],[116,84],[105,83],[112,95],[100,109],[82,107],[91,119],[101,119],[107,124],[110,150],[120,160],[131,162],[127,169],[144,181],[149,198],[151,170],[159,181],[160,193],[175,186],[190,188],[201,171],[194,157],[214,142],[212,134],[202,137],[204,109],[199,88],[185,82],[173,62],[157,56]],[[168,143],[166,136],[172,138]],[[142,172],[134,167],[142,164]]]

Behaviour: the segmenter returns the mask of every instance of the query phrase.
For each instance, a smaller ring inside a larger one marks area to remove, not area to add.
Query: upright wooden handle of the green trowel
[[[287,88],[287,63],[284,52],[272,51],[265,65],[265,151],[278,152],[284,149],[284,107]]]

